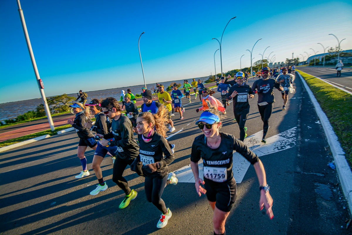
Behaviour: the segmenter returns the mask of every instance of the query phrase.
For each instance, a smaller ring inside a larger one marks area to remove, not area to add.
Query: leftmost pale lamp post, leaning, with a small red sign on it
[[[39,88],[40,94],[42,95],[44,110],[45,110],[46,116],[48,117],[50,129],[51,129],[51,131],[54,131],[55,130],[54,122],[52,121],[52,118],[51,118],[51,113],[50,113],[48,101],[46,101],[46,97],[45,97],[45,93],[44,93],[44,84],[43,84],[42,79],[40,79],[40,76],[39,76],[39,71],[38,71],[36,59],[34,58],[34,53],[33,53],[33,50],[32,50],[32,44],[31,44],[31,41],[29,39],[29,34],[28,34],[28,31],[27,31],[26,21],[24,19],[24,14],[23,14],[23,10],[21,8],[20,0],[17,0],[17,5],[18,5],[18,11],[20,13],[20,18],[21,18],[21,21],[22,21],[23,32],[24,32],[24,35],[25,35],[26,41],[27,41],[27,47],[28,47],[29,55],[31,56],[34,73],[36,74],[38,88]]]

